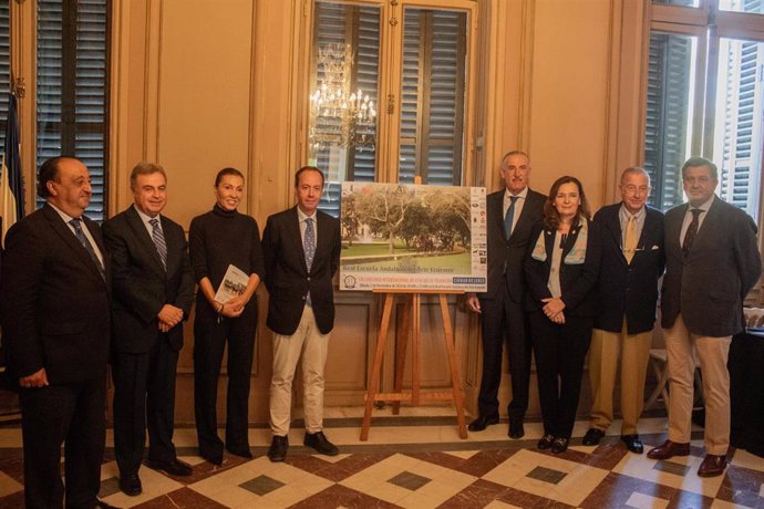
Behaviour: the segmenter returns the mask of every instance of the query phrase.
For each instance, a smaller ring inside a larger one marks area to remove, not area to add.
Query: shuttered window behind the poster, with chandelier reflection
[[[464,183],[475,2],[407,3],[312,4],[307,155],[330,214],[343,180]]]

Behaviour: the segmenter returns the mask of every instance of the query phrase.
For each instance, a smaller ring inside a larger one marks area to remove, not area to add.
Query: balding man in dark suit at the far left
[[[96,498],[105,440],[109,261],[99,226],[83,212],[87,168],[54,157],[40,167],[45,205],[6,237],[0,312],[9,370],[20,385],[24,500],[109,507]]]

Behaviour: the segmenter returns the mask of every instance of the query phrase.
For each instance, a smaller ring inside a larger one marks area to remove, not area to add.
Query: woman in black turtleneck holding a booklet
[[[265,277],[257,221],[236,210],[244,194],[244,175],[224,168],[215,178],[217,202],[190,224],[189,251],[199,291],[194,322],[194,405],[199,454],[223,463],[223,440],[217,436],[217,383],[228,342],[228,397],[226,449],[251,458],[249,451],[249,384],[257,332],[255,291]],[[244,293],[226,302],[215,293],[233,264],[249,274]]]

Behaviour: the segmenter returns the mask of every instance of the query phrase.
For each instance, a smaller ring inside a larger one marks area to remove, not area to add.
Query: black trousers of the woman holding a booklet
[[[223,456],[217,436],[217,386],[223,353],[228,343],[226,447],[249,450],[249,386],[257,332],[257,301],[251,299],[236,319],[217,320],[207,301],[197,300],[194,319],[194,414],[199,454]]]

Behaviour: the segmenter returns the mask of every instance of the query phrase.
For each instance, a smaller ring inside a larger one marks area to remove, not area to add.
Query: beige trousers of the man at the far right
[[[725,455],[730,447],[730,372],[726,361],[732,336],[693,334],[677,316],[671,329],[663,329],[669,370],[669,439],[690,442],[692,426],[693,346],[700,359],[705,399],[705,451]]]

